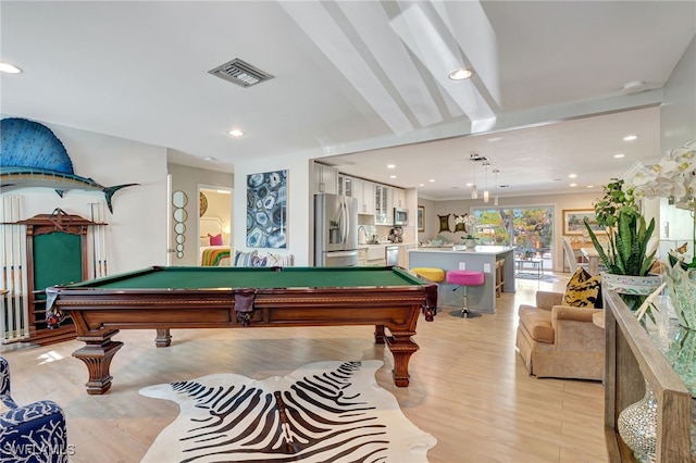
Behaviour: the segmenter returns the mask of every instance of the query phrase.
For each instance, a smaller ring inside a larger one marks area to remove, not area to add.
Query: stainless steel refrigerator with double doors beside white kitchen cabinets
[[[358,265],[358,199],[314,195],[314,265]]]

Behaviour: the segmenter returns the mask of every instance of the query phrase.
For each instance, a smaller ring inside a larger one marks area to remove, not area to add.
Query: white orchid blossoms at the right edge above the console
[[[629,180],[633,196],[669,198],[696,209],[696,140],[668,151],[657,164],[641,167]]]

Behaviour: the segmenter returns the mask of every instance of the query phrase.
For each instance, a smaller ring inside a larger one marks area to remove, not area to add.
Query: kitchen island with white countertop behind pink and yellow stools
[[[409,251],[409,268],[436,267],[445,272],[450,270],[474,270],[484,275],[482,286],[467,289],[469,308],[482,313],[495,313],[496,310],[496,262],[504,260],[505,292],[514,292],[514,248],[509,246],[476,246],[474,249],[463,247],[419,248]],[[462,305],[462,291],[456,285],[446,281],[438,284],[438,306],[458,309]]]

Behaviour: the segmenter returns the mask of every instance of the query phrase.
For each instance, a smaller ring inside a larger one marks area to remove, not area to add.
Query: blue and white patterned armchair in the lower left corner
[[[69,452],[63,410],[50,400],[17,405],[0,356],[0,462],[65,463]]]

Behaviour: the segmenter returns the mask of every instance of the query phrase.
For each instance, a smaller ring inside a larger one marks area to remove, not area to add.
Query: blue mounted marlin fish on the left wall
[[[61,198],[74,189],[101,191],[113,213],[113,195],[135,185],[104,187],[75,175],[65,147],[48,127],[16,117],[0,121],[0,193],[35,187],[51,188]]]

